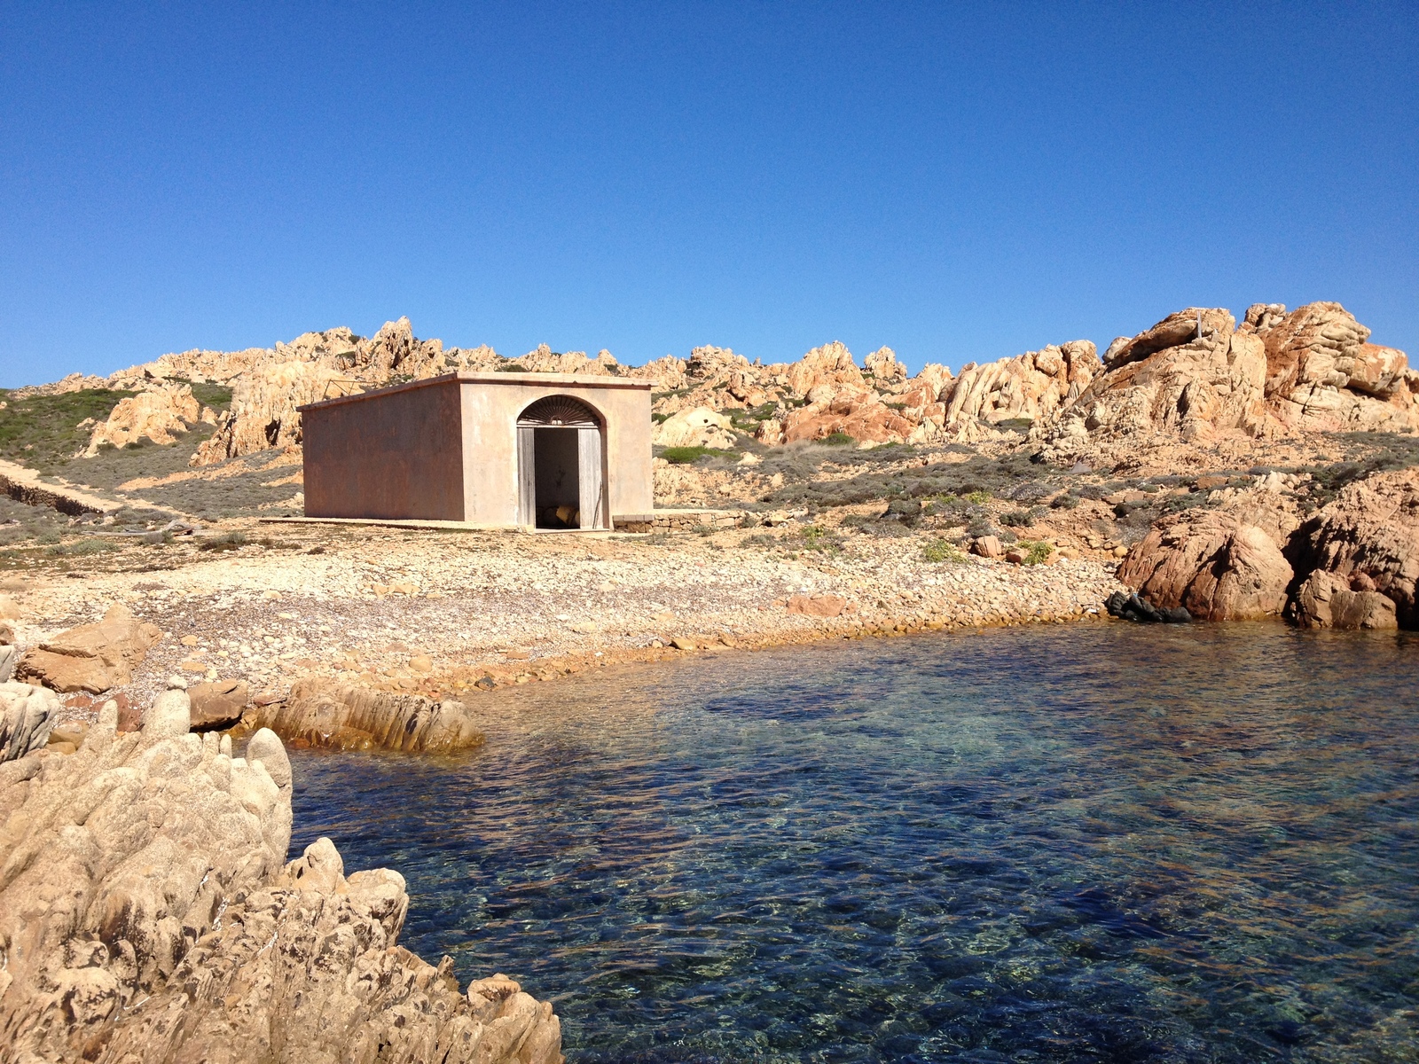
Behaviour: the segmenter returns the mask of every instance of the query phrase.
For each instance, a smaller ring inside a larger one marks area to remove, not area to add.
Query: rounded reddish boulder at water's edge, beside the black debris
[[[1182,606],[1199,620],[1260,620],[1286,609],[1293,570],[1254,525],[1192,511],[1155,523],[1117,576],[1158,610]]]

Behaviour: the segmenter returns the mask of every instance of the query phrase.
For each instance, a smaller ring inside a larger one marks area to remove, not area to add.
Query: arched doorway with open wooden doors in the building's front
[[[518,523],[606,528],[602,419],[570,396],[539,399],[518,416]]]

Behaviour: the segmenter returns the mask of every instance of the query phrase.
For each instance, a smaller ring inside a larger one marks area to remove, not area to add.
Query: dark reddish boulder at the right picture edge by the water
[[[1419,628],[1419,470],[1375,472],[1345,485],[1297,529],[1287,555],[1303,579],[1324,572],[1351,590],[1384,594],[1401,627]],[[1323,600],[1321,590],[1311,589],[1313,602]],[[1296,617],[1311,624],[1321,613],[1298,597]]]

